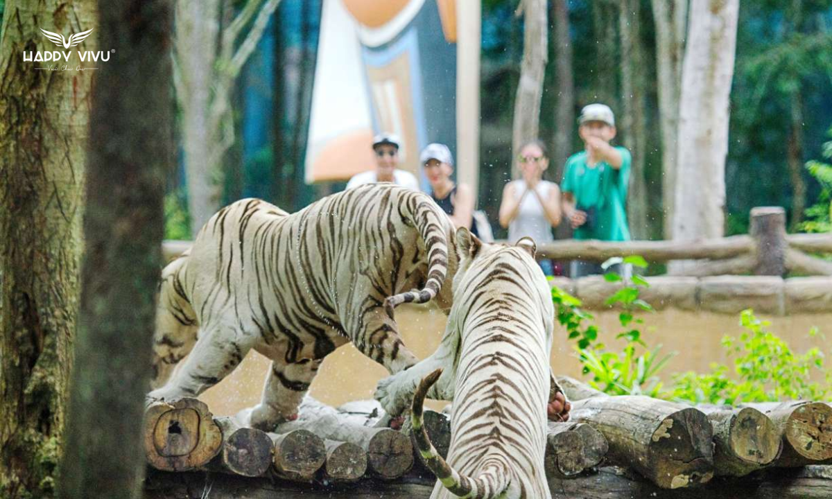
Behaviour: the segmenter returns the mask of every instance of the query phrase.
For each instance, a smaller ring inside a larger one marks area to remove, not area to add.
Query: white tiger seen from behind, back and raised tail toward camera
[[[456,243],[459,269],[442,343],[391,377],[415,390],[414,437],[438,477],[431,498],[551,497],[543,457],[554,308],[534,243],[484,245],[464,229]],[[453,399],[447,462],[424,431],[426,396]]]

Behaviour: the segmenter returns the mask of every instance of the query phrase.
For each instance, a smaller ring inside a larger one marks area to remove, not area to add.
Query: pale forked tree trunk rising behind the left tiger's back
[[[173,74],[194,235],[219,208],[223,156],[234,143],[234,83],[280,0],[247,0],[222,24],[221,12],[231,12],[235,3],[176,0]]]

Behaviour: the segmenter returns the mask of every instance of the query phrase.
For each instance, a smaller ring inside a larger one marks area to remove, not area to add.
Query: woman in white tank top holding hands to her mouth
[[[552,227],[561,223],[561,190],[554,182],[542,180],[543,171],[549,167],[546,146],[542,141],[527,142],[520,148],[517,161],[522,178],[503,188],[500,225],[508,227],[512,244],[524,236],[537,245],[550,243],[555,240]],[[544,274],[554,274],[551,260],[538,263]]]

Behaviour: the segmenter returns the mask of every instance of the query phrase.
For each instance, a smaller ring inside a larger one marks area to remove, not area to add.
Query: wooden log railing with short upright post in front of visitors
[[[832,234],[785,233],[785,210],[751,210],[750,235],[695,241],[559,240],[537,246],[541,258],[603,262],[616,256],[641,255],[651,263],[697,260],[683,274],[708,275],[832,275],[832,261],[809,253],[832,254]],[[166,240],[162,252],[172,259],[191,247],[191,241]]]

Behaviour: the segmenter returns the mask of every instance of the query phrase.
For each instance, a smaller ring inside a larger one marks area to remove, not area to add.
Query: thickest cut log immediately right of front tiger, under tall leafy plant
[[[607,438],[607,457],[661,488],[690,487],[713,477],[711,422],[695,408],[642,396],[572,402],[572,420]]]

